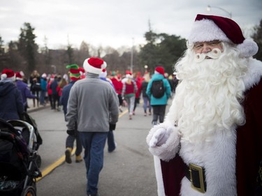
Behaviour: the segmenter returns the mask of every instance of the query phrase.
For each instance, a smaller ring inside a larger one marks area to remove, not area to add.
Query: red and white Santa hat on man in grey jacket
[[[107,64],[102,59],[97,57],[90,57],[89,59],[85,59],[83,67],[86,72],[94,73],[99,75],[101,71],[106,68]]]

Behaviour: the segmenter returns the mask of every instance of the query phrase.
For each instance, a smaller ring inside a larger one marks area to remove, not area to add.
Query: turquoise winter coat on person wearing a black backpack
[[[151,92],[152,82],[157,81],[157,80],[163,80],[163,87],[166,89],[166,93],[161,98],[155,98]],[[163,77],[163,75],[159,73],[155,73],[147,85],[146,93],[147,93],[147,96],[150,97],[150,105],[167,105],[168,98],[170,97],[170,94],[171,94],[171,87],[170,87],[168,80],[166,80],[166,78]]]

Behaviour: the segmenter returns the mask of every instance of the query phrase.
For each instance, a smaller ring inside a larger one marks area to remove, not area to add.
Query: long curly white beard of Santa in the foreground
[[[218,59],[196,63],[192,50],[187,50],[176,65],[177,78],[182,82],[166,118],[177,123],[182,140],[212,142],[217,131],[231,134],[229,130],[245,123],[240,102],[245,91],[242,77],[247,61],[238,58],[232,47],[223,46],[224,52]]]

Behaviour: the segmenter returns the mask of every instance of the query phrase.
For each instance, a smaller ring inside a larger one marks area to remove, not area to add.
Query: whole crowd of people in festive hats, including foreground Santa
[[[146,141],[159,196],[261,195],[262,63],[252,58],[258,47],[233,20],[210,15],[196,16],[187,47],[169,77],[157,65],[143,76],[130,70],[108,74],[97,57],[85,59],[83,68],[68,65],[63,77],[34,70],[29,84],[22,71],[4,69],[0,118],[20,119],[28,98],[34,107],[62,106],[66,163],[72,163],[76,141],[75,162],[84,160],[87,169],[87,195],[96,196],[106,140],[108,152],[116,148],[119,112],[126,107],[129,120],[135,119],[143,99],[143,115],[152,115]]]

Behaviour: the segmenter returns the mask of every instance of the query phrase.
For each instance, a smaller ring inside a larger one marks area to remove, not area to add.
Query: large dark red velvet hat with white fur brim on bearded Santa
[[[259,50],[254,40],[244,38],[240,27],[233,20],[216,15],[196,15],[189,34],[189,45],[212,40],[234,43],[243,57],[253,56]]]

